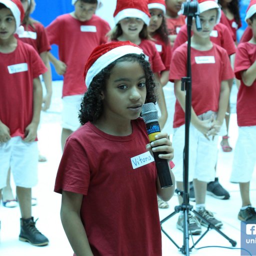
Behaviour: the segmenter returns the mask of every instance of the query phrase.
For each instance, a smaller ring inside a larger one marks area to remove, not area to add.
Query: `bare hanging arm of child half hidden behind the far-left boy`
[[[47,71],[42,74],[42,78],[43,78],[44,85],[46,88],[46,95],[43,97],[43,100],[42,100],[42,103],[44,104],[42,107],[42,110],[46,111],[50,107],[50,99],[51,99],[51,94],[52,94],[51,68],[50,68],[50,62],[49,62],[49,57],[48,57],[47,51],[41,52],[40,57],[41,57],[44,65],[47,67]]]

